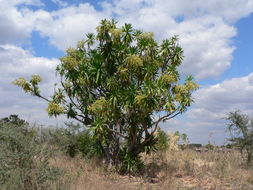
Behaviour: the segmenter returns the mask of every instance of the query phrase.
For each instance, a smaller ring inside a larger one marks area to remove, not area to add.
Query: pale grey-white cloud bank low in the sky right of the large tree
[[[253,73],[245,77],[225,80],[221,83],[206,86],[194,93],[193,108],[186,112],[186,118],[163,124],[164,128],[172,128],[186,132],[192,142],[208,142],[208,134],[212,133],[212,141],[223,144],[226,134],[226,116],[229,112],[241,110],[253,117],[253,85],[250,83]]]

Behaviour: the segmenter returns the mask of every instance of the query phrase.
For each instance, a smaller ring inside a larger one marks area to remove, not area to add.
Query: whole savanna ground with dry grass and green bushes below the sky
[[[206,147],[210,150],[198,152],[186,148],[187,144],[180,148],[176,133],[169,133],[168,138],[157,133],[158,145],[162,142],[166,148],[160,146],[149,155],[142,153],[144,166],[132,175],[123,175],[116,168],[108,168],[104,157],[96,156],[92,136],[87,131],[77,133],[76,127],[41,131],[16,115],[1,119],[0,189],[253,189],[252,163],[246,164],[247,156],[235,148],[209,144]]]

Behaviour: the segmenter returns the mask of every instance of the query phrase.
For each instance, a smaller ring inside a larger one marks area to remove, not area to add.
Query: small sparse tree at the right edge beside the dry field
[[[240,111],[230,112],[226,118],[228,130],[231,138],[228,139],[233,145],[238,146],[241,150],[246,151],[247,164],[252,163],[253,158],[253,119],[248,115],[241,114]]]

